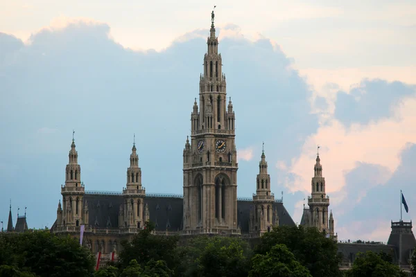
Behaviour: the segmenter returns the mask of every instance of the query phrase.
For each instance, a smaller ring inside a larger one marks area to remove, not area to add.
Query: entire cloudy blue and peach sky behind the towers
[[[341,240],[386,242],[400,190],[416,218],[414,1],[0,1],[0,220],[55,221],[75,129],[87,190],[182,194],[182,150],[216,5],[236,113],[238,195],[262,142],[295,222],[317,145]],[[163,8],[162,8],[163,7]]]

